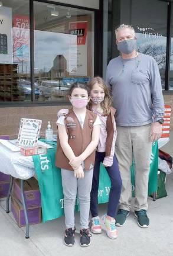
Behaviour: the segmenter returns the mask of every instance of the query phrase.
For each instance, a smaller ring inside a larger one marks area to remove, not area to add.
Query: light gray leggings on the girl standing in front
[[[92,189],[93,169],[84,170],[84,178],[74,177],[74,171],[61,169],[64,215],[66,228],[74,228],[74,206],[76,195],[80,203],[80,228],[89,227],[90,191]]]

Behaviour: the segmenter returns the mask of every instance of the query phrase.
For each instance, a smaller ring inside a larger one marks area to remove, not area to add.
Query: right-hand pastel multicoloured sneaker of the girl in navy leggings
[[[102,222],[106,226],[107,236],[111,239],[117,238],[117,229],[115,226],[115,219],[105,214],[102,216]]]

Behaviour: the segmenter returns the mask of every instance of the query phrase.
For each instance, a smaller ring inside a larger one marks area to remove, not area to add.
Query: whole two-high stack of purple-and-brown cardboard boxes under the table
[[[41,197],[38,181],[32,177],[24,183],[24,196],[30,225],[41,222]],[[25,226],[25,216],[22,207],[20,180],[14,180],[11,211],[19,227]]]

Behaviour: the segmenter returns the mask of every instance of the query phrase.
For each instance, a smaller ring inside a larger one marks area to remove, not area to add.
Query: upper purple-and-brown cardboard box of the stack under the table
[[[21,199],[21,183],[19,179],[14,180],[13,188],[14,196],[22,202]],[[24,182],[24,195],[27,209],[41,207],[41,196],[38,181],[32,177]]]

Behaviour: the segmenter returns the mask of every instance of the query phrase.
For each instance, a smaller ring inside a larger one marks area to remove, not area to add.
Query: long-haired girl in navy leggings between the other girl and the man
[[[102,222],[106,225],[107,236],[115,239],[117,238],[115,217],[122,187],[122,180],[115,156],[117,132],[114,115],[116,110],[111,107],[111,98],[105,81],[103,81],[102,78],[96,77],[91,79],[89,82],[89,88],[91,101],[89,102],[88,107],[93,111],[93,113],[98,114],[101,121],[99,145],[96,151],[93,184],[90,194],[90,211],[92,213],[90,228],[93,233],[102,232],[98,212],[99,172],[100,162],[102,162],[111,181],[107,214],[103,215]]]

